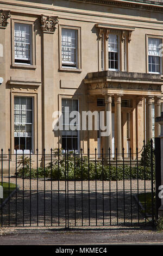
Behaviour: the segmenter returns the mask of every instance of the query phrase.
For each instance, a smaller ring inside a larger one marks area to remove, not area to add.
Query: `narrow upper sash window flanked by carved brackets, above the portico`
[[[119,68],[119,46],[118,46],[118,36],[109,34],[108,39],[108,62],[109,70],[117,71]]]

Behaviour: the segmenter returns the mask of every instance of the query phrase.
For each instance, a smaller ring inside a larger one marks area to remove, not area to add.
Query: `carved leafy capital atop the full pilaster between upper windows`
[[[41,29],[43,32],[54,33],[56,25],[58,24],[58,17],[41,15]]]

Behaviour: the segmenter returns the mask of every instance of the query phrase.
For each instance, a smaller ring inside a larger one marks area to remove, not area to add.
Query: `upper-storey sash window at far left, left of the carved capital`
[[[15,63],[32,64],[32,25],[14,24]]]

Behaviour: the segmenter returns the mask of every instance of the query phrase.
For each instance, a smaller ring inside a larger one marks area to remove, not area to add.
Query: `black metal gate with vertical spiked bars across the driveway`
[[[153,141],[115,157],[57,149],[7,155],[1,150],[1,227],[154,225]],[[129,157],[127,157],[129,156]]]

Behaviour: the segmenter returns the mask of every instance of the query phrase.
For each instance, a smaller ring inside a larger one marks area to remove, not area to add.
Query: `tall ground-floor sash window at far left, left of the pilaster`
[[[33,144],[33,99],[14,97],[14,149],[29,153]]]

